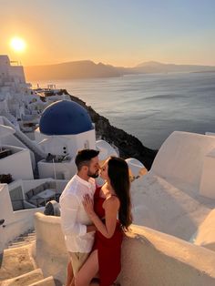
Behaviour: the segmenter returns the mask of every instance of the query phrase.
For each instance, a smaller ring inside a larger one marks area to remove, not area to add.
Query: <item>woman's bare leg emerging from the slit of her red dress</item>
[[[99,285],[98,283],[90,284],[92,279],[97,275],[98,272],[98,258],[97,250],[94,250],[87,258],[85,264],[82,266],[80,271],[78,271],[75,277],[76,286],[89,286],[89,285]]]

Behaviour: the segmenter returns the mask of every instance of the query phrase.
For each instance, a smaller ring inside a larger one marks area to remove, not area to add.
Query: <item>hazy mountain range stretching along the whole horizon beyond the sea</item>
[[[215,66],[162,64],[155,61],[134,67],[95,64],[90,60],[68,62],[47,66],[25,66],[26,79],[50,80],[92,77],[120,77],[129,74],[152,74],[171,72],[214,72]]]

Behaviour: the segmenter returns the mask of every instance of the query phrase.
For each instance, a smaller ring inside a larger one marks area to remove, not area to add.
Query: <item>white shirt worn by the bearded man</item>
[[[95,232],[87,233],[87,225],[91,225],[92,221],[87,216],[82,200],[86,194],[93,199],[95,190],[95,179],[87,181],[75,175],[60,196],[61,226],[70,252],[88,253],[92,250]]]

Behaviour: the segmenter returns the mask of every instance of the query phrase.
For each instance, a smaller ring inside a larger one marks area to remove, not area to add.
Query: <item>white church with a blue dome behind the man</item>
[[[74,101],[59,100],[44,109],[36,141],[47,154],[46,160],[38,162],[40,178],[68,179],[76,172],[77,151],[96,148],[96,133],[84,107]],[[55,176],[50,163],[55,163]]]

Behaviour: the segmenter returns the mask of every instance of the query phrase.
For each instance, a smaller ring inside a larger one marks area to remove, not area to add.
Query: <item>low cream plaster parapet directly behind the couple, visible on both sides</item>
[[[45,276],[65,282],[68,257],[60,218],[36,213],[35,222],[37,264]],[[118,281],[123,286],[212,286],[214,265],[213,251],[133,226],[123,241]]]

